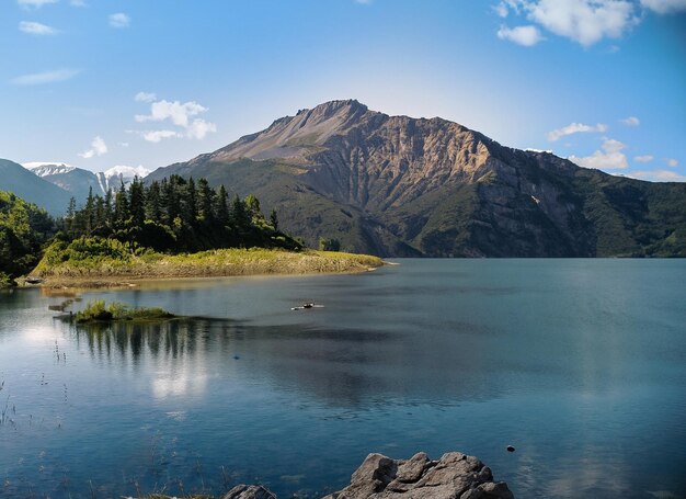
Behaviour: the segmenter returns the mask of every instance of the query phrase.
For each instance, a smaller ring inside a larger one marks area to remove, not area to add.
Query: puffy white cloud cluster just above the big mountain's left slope
[[[150,98],[155,98],[155,94],[139,92],[136,95],[137,101],[149,101]],[[207,107],[204,107],[195,101],[182,103],[180,101],[161,100],[150,104],[150,114],[137,114],[134,118],[138,123],[169,121],[183,129],[183,134],[170,129],[139,132],[138,134],[148,141],[158,143],[162,138],[183,137],[184,135],[187,138],[201,140],[205,138],[207,134],[217,132],[217,125],[214,123],[195,117],[206,111]]]

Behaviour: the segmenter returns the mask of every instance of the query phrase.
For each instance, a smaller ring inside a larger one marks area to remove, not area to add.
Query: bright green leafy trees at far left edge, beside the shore
[[[44,209],[0,191],[0,287],[34,268],[53,234],[54,222]]]

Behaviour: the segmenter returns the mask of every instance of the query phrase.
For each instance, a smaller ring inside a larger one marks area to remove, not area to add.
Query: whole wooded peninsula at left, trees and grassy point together
[[[91,193],[80,208],[72,199],[67,215],[55,220],[15,196],[5,201],[0,207],[8,222],[27,220],[25,227],[8,223],[5,230],[32,236],[7,254],[21,264],[5,265],[5,285],[22,274],[24,284],[107,287],[157,279],[352,273],[384,264],[341,252],[340,241],[323,236],[319,249],[310,249],[279,229],[274,209],[265,216],[254,195],[231,201],[224,185],[211,189],[205,179],[172,175],[145,184],[136,178],[104,197]]]

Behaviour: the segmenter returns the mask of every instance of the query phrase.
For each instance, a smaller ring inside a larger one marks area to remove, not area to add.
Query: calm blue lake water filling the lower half
[[[0,496],[319,497],[369,452],[458,450],[519,498],[686,497],[685,261],[399,262],[75,304],[207,317],[164,326],[0,294]]]

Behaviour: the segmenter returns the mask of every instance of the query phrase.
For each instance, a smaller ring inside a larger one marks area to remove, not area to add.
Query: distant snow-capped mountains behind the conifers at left
[[[134,180],[134,177],[144,178],[150,173],[149,170],[142,167],[124,166],[113,167],[102,172],[92,172],[65,163],[49,162],[25,163],[24,167],[42,179],[70,192],[79,204],[85,202],[91,189],[94,195],[100,194],[104,196],[110,189],[116,191],[122,183],[128,185]]]

